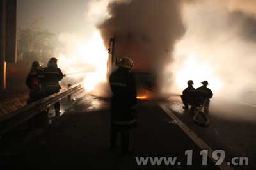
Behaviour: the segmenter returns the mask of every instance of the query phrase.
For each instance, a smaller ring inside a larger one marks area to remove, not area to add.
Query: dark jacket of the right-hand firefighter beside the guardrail
[[[63,79],[63,73],[56,66],[47,66],[44,68],[44,89],[47,94],[51,95],[60,91],[59,81]]]

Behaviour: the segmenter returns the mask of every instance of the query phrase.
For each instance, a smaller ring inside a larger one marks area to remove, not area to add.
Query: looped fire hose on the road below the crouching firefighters
[[[200,127],[208,127],[209,124],[210,124],[210,118],[208,116],[207,113],[205,112],[202,112],[202,109],[203,107],[205,106],[207,100],[204,100],[204,103],[203,104],[200,104],[198,107],[193,107],[193,113],[194,113],[194,116],[193,116],[193,121],[194,123],[196,123],[196,125],[200,126]],[[201,115],[202,118],[205,120],[204,123],[198,121],[197,117]]]

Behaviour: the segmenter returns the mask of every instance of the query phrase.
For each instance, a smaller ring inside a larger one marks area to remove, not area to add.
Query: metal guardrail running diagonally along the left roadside
[[[55,93],[49,97],[42,98],[41,100],[21,107],[17,111],[13,111],[10,112],[10,114],[1,116],[0,135],[3,135],[15,127],[18,127],[21,123],[28,121],[40,112],[45,111],[51,105],[54,105],[56,102],[76,93],[77,91],[80,91],[81,89],[83,89],[82,84],[75,84],[68,87],[67,89],[61,89],[60,92]]]

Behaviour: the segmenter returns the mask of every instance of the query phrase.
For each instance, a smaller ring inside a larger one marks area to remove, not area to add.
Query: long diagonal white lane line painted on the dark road
[[[171,112],[164,104],[159,104],[159,106],[163,109],[164,112],[166,112],[166,114],[168,114],[168,116],[170,116],[170,118],[173,119],[173,121],[177,122],[177,125],[179,125],[179,127],[192,139],[192,141],[194,141],[195,144],[197,144],[197,146],[199,146],[199,148],[201,148],[201,150],[208,150],[208,157],[211,158],[214,163],[216,163],[216,160],[212,158],[212,148],[210,148],[208,144],[200,139],[200,137],[198,137],[198,135],[196,135],[189,127],[187,127],[187,125],[179,120],[179,118],[177,118],[177,116],[175,116],[173,112]],[[223,161],[219,167],[222,170],[234,170],[231,166],[227,166],[226,161]]]

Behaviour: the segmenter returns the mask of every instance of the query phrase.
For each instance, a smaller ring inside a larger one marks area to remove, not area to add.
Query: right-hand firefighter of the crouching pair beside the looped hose
[[[208,114],[209,113],[210,98],[212,98],[213,93],[212,93],[211,89],[207,88],[208,81],[203,81],[201,83],[203,84],[203,86],[197,88],[196,92],[198,92],[199,94],[202,94],[201,96],[204,98],[204,100],[206,100],[205,105],[204,105],[204,112],[206,114]]]

